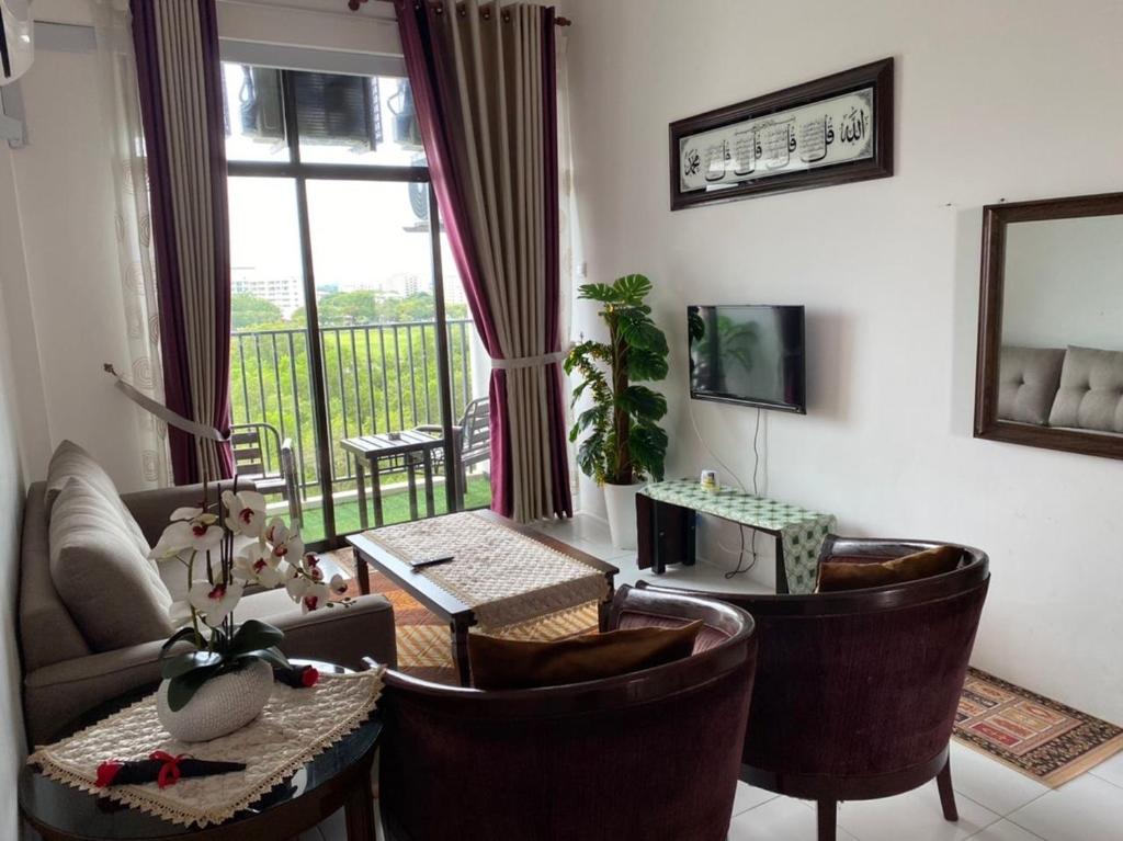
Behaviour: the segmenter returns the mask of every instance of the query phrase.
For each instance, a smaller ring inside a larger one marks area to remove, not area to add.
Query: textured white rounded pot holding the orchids
[[[199,687],[182,710],[167,705],[167,680],[156,693],[159,723],[181,742],[208,742],[244,728],[262,712],[273,692],[273,668],[263,660],[219,675]]]

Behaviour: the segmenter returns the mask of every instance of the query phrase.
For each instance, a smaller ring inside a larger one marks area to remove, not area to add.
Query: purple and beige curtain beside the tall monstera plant
[[[453,254],[492,358],[492,508],[569,517],[554,10],[394,0]]]

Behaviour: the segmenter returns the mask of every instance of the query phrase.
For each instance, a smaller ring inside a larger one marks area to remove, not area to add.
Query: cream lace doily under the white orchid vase
[[[209,742],[179,742],[156,717],[149,695],[108,719],[55,744],[42,747],[27,761],[51,779],[147,812],[184,826],[208,826],[232,817],[312,757],[354,732],[382,692],[381,671],[321,675],[307,689],[274,684],[262,714],[229,735]],[[145,785],[97,786],[98,766],[109,759],[146,759],[155,750],[195,759],[244,762],[244,771],[182,778],[161,789]]]

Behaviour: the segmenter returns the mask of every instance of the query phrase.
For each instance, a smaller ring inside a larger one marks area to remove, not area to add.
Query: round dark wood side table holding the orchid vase
[[[322,673],[346,669],[316,660],[294,660]],[[63,739],[128,706],[155,687],[131,692],[83,715],[57,733]],[[206,829],[181,826],[106,797],[48,779],[30,766],[19,775],[19,811],[46,841],[282,841],[337,812],[346,811],[348,841],[374,841],[371,769],[382,733],[375,713],[349,735],[310,759],[245,812]]]

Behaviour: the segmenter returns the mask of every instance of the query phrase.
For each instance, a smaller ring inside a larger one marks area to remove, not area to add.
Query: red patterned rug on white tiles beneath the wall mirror
[[[1057,787],[1123,750],[1123,728],[970,669],[956,739]]]

